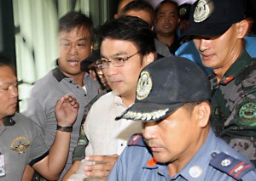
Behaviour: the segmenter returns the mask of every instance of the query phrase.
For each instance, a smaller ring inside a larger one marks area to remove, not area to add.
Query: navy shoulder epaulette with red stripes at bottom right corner
[[[210,165],[223,173],[227,173],[236,180],[240,180],[246,173],[255,168],[252,164],[238,160],[223,152],[214,156],[210,161]]]

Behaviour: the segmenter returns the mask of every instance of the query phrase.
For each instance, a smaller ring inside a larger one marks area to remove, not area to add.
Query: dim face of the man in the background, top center
[[[156,14],[154,30],[157,34],[173,34],[177,30],[180,19],[177,9],[172,3],[164,3]]]

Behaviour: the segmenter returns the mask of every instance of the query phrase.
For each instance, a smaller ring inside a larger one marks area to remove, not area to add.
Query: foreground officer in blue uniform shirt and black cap
[[[108,180],[255,180],[255,167],[218,139],[209,124],[210,82],[183,58],[141,71],[134,105],[116,119],[143,122]]]

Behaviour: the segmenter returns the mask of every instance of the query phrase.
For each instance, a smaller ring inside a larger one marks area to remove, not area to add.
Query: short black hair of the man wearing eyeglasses
[[[121,16],[110,20],[99,29],[99,43],[105,38],[134,42],[142,55],[155,53],[154,33],[144,20],[134,16]]]

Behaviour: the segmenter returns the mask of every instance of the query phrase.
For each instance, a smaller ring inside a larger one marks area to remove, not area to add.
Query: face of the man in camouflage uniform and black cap
[[[194,43],[201,55],[202,64],[212,69],[229,68],[241,52],[237,46],[236,25],[232,25],[220,37],[195,37]]]

